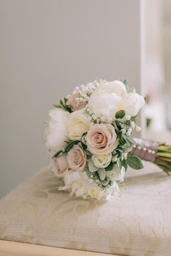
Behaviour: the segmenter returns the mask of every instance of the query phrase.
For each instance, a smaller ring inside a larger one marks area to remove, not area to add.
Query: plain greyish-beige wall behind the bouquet
[[[43,120],[95,78],[140,85],[138,0],[0,0],[0,196],[47,165]]]

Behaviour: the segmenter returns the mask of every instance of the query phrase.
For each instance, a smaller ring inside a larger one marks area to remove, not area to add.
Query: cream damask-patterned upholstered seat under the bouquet
[[[130,256],[171,255],[171,179],[145,162],[122,196],[70,198],[41,170],[0,201],[0,239]]]

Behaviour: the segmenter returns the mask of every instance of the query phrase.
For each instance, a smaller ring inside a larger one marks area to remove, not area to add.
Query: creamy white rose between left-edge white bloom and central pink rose
[[[83,133],[88,131],[90,127],[90,121],[83,115],[84,110],[78,110],[70,114],[67,122],[67,136],[69,139],[78,140]]]

